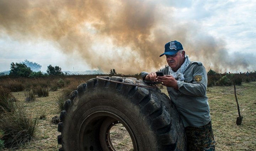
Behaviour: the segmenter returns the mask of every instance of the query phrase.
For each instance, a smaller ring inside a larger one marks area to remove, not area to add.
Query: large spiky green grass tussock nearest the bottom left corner
[[[23,107],[16,104],[15,112],[4,114],[0,119],[0,127],[4,131],[5,147],[19,147],[33,139],[38,128],[37,116],[28,116]]]

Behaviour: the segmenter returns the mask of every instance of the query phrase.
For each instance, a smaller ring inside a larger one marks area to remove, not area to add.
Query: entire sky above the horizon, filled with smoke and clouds
[[[164,45],[219,73],[256,70],[255,0],[0,0],[0,71],[156,71]]]

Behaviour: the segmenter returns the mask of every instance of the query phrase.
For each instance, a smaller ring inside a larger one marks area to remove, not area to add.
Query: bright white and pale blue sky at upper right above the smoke
[[[255,52],[255,8],[254,0],[194,0],[191,5],[172,9],[172,16],[177,23],[193,23],[214,38],[223,39],[230,52],[244,49]]]

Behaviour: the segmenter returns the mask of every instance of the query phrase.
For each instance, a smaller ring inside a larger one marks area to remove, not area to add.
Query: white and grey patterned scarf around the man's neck
[[[179,81],[184,81],[184,71],[187,69],[188,65],[190,65],[191,61],[188,58],[188,55],[185,55],[185,61],[181,65],[181,67],[177,70],[177,72],[172,71],[171,67],[169,66],[170,75],[172,75],[175,79],[178,79]]]

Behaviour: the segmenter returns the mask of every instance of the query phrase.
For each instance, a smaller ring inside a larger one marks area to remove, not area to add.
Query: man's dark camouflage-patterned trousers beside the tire
[[[186,127],[188,151],[215,151],[212,123],[201,127]]]

